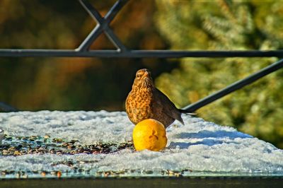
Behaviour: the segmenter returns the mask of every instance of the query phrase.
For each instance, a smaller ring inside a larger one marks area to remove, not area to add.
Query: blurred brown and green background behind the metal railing
[[[115,3],[91,1],[104,16]],[[79,1],[1,0],[0,48],[75,49],[96,23]],[[110,24],[129,49],[282,49],[283,1],[129,1]],[[115,49],[105,35],[91,49]],[[19,110],[124,110],[134,74],[184,107],[277,58],[0,57],[0,102]],[[197,114],[283,148],[283,70]]]

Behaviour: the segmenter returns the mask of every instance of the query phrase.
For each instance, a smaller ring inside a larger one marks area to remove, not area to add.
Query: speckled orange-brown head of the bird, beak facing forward
[[[152,88],[154,81],[151,78],[151,73],[147,69],[140,69],[137,71],[136,78],[134,78],[133,88]]]

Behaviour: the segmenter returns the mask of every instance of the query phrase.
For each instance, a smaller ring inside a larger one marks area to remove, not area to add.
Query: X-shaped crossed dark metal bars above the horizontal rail
[[[83,8],[88,11],[91,17],[96,20],[98,25],[96,25],[96,28],[91,31],[91,33],[86,37],[86,39],[81,43],[76,51],[87,51],[89,47],[91,47],[91,44],[93,44],[93,42],[99,35],[101,35],[103,31],[106,33],[112,44],[117,47],[117,49],[120,49],[120,51],[127,51],[127,48],[122,44],[122,42],[120,42],[119,38],[112,32],[109,27],[109,23],[112,21],[112,19],[115,18],[117,13],[127,3],[127,1],[117,1],[114,6],[112,6],[110,11],[106,14],[105,18],[103,18],[96,10],[96,8],[94,8],[88,1],[80,0],[80,3]]]

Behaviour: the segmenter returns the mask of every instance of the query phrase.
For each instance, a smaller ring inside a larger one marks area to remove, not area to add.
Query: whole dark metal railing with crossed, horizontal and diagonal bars
[[[118,0],[110,8],[110,11],[101,16],[100,13],[94,8],[87,0],[79,0],[83,8],[96,20],[97,25],[91,33],[86,37],[81,45],[76,49],[0,49],[0,57],[102,57],[102,58],[181,58],[181,57],[283,57],[283,50],[245,50],[245,51],[185,51],[185,50],[134,50],[127,49],[122,44],[120,39],[110,28],[111,21],[117,16],[117,13],[122,9],[129,0]],[[89,49],[93,42],[102,33],[108,37],[110,42],[117,48],[116,50],[91,50]],[[252,74],[240,81],[232,83],[230,86],[213,93],[212,95],[203,98],[183,109],[194,112],[195,110],[203,107],[204,105],[214,102],[215,100],[232,93],[235,90],[243,88],[250,83],[257,81],[259,78],[266,76],[283,67],[283,59],[266,66],[255,74]],[[1,105],[1,103],[0,103]],[[0,106],[1,107],[1,106]]]

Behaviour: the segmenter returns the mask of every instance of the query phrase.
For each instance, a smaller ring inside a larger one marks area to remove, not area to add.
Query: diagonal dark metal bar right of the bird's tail
[[[266,76],[267,74],[277,71],[278,69],[281,69],[282,67],[283,67],[283,59],[275,62],[274,64],[271,64],[270,66],[265,67],[264,69],[261,69],[255,74],[252,74],[246,78],[243,78],[240,81],[236,81],[235,83],[232,83],[230,86],[227,86],[226,88],[221,89],[217,91],[216,93],[213,93],[212,95],[209,95],[203,98],[202,100],[192,103],[191,105],[188,105],[184,107],[183,109],[188,110],[190,112],[195,112],[195,110],[200,109],[201,107],[209,104],[210,102],[214,102],[215,100],[222,98],[225,95],[228,95],[229,93],[232,93],[235,90],[243,88],[244,86],[247,86],[250,83],[257,81],[259,78],[262,78],[263,76]]]

